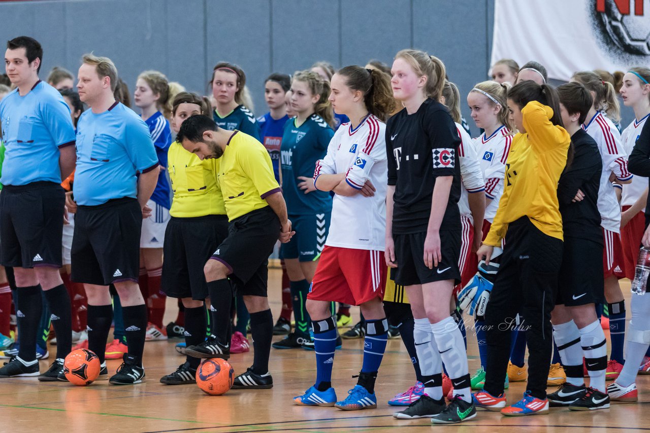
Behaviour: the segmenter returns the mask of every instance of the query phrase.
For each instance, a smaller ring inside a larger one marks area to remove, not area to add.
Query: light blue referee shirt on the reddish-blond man
[[[77,122],[77,204],[96,206],[122,197],[136,198],[136,173],[158,166],[149,127],[133,110],[115,103],[103,113],[86,110]]]

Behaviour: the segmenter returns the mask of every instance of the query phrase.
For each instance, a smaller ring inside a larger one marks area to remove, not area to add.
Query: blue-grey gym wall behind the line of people
[[[317,60],[335,68],[371,58],[391,64],[414,47],[445,62],[476,136],[464,97],[487,79],[493,14],[494,0],[8,1],[0,3],[0,41],[28,35],[42,43],[42,79],[53,66],[76,75],[89,51],[109,56],[131,92],[138,73],[158,69],[207,93],[214,64],[234,62],[246,71],[257,116],[266,112],[272,72]]]

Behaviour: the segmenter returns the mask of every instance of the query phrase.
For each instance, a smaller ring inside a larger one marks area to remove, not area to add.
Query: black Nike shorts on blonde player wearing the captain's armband
[[[440,232],[442,260],[433,269],[429,269],[424,264],[425,238],[426,232],[393,235],[395,259],[397,260],[395,282],[402,286],[444,280],[454,280],[454,284],[460,283],[460,269],[458,269],[460,230]]]

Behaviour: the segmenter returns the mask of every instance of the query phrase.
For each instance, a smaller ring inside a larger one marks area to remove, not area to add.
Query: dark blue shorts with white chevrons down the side
[[[331,212],[313,215],[289,215],[292,230],[296,232],[291,241],[280,246],[280,258],[297,258],[300,262],[312,262],[320,256],[330,232]]]

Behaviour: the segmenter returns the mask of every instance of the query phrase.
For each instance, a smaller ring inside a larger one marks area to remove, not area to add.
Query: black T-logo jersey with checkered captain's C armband
[[[435,179],[453,176],[440,230],[460,230],[461,180],[457,149],[460,137],[447,108],[426,99],[417,112],[406,109],[386,126],[388,184],[393,195],[393,234],[426,232]]]

